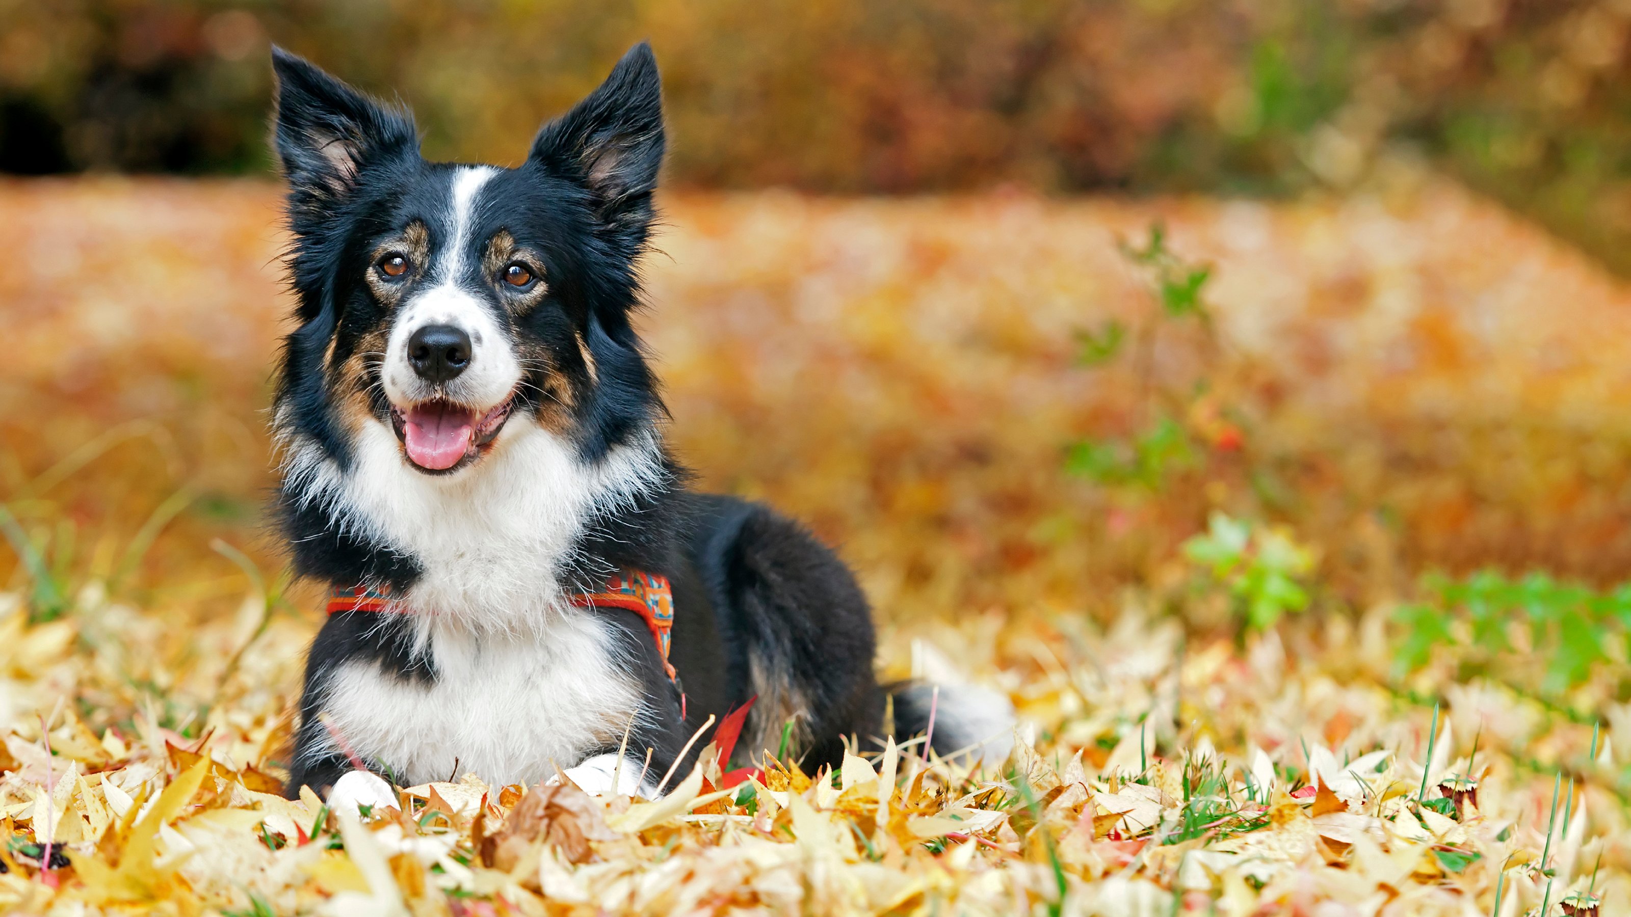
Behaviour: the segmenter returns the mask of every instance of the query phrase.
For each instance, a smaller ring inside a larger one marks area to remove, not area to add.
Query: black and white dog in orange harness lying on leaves
[[[401,785],[559,767],[605,791],[625,734],[620,790],[646,773],[649,793],[750,698],[737,747],[776,749],[791,723],[806,770],[846,738],[925,729],[926,689],[891,702],[874,679],[843,563],[762,506],[688,491],[664,447],[630,325],[664,150],[651,49],[517,168],[426,162],[406,111],[272,64],[298,297],[277,504],[295,571],[334,591],[290,793],[359,767]],[[1000,738],[1006,698],[939,698],[941,752]]]

